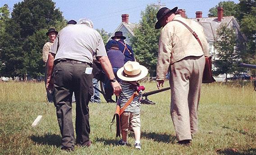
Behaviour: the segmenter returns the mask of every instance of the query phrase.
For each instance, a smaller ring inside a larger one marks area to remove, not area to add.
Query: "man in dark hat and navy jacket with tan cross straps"
[[[110,40],[105,46],[107,51],[110,50],[112,43],[118,43],[119,50],[125,56],[124,63],[126,63],[127,61],[135,61],[132,47],[129,46],[127,43],[124,43],[124,39],[126,39],[126,37],[123,36],[123,32],[121,31],[115,32],[114,36],[111,37],[111,39],[112,40]]]

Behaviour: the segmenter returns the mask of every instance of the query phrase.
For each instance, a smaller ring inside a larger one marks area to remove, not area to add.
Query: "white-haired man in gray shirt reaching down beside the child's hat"
[[[89,25],[89,26],[88,26]],[[93,95],[91,65],[93,56],[101,66],[119,95],[121,86],[114,78],[101,35],[91,28],[92,22],[80,19],[77,25],[66,26],[59,31],[47,62],[47,89],[54,89],[62,149],[73,151],[74,131],[72,124],[72,93],[76,98],[76,143],[90,146],[88,102]]]

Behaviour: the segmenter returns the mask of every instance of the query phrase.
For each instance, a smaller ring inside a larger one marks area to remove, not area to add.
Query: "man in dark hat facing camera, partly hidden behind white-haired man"
[[[42,56],[42,57],[43,57],[43,61],[44,61],[45,65],[46,65],[46,62],[47,62],[47,60],[48,60],[48,54],[49,54],[49,52],[50,52],[50,48],[51,48],[51,46],[53,45],[54,40],[55,40],[55,38],[57,37],[57,34],[58,34],[58,32],[55,31],[54,28],[50,28],[50,29],[48,30],[48,32],[46,32],[46,35],[49,37],[50,41],[47,42],[47,43],[45,43],[45,45],[44,45],[44,47],[43,47],[43,56]],[[45,72],[45,84],[46,84],[47,67],[46,67],[46,70],[45,70],[45,71],[46,71],[46,72]],[[47,91],[47,99],[48,99],[49,102],[53,102],[53,97],[52,97],[52,95],[50,94],[49,91]]]

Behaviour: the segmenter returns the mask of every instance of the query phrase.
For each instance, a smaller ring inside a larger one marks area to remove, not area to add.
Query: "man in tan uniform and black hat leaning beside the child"
[[[161,30],[157,61],[157,87],[163,86],[170,69],[171,116],[179,144],[189,145],[197,132],[197,107],[200,98],[202,74],[208,47],[202,27],[190,19],[175,15],[174,9],[161,8],[156,17],[155,29]],[[197,39],[179,20],[194,30]]]

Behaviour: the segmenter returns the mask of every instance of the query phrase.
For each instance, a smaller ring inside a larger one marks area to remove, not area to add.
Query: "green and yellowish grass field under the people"
[[[155,82],[142,83],[146,91]],[[165,86],[169,86],[165,82]],[[53,103],[46,102],[44,83],[0,82],[0,155],[256,155],[256,91],[252,83],[203,84],[199,103],[199,132],[191,146],[180,146],[170,117],[170,91],[151,95],[155,105],[142,105],[142,150],[118,146],[110,122],[114,103],[90,103],[92,146],[60,150],[60,131]],[[75,116],[73,104],[73,122]],[[31,127],[42,115],[41,122]]]

